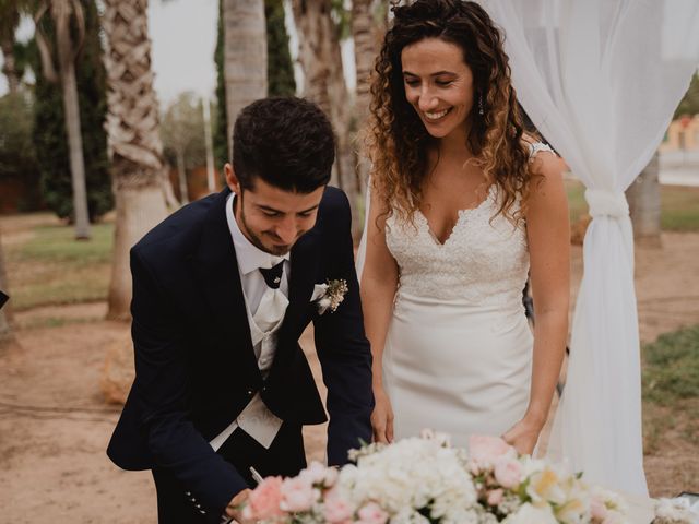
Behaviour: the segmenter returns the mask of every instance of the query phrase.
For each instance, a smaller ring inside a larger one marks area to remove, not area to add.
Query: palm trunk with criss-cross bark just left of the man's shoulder
[[[107,131],[117,200],[108,318],[128,319],[130,248],[167,216],[147,0],[106,0]]]

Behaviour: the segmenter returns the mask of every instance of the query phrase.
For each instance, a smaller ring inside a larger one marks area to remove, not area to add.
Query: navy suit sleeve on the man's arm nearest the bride
[[[348,290],[336,311],[315,319],[316,348],[328,388],[328,462],[347,462],[347,451],[371,441],[371,352],[364,333],[359,284],[354,265],[350,202],[337,191],[339,203],[328,217],[325,264],[331,279],[345,279]]]

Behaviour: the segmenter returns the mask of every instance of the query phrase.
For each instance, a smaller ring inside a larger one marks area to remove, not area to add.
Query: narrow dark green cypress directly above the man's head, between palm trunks
[[[266,76],[269,96],[293,96],[296,93],[294,66],[284,25],[284,2],[264,0],[266,20]]]

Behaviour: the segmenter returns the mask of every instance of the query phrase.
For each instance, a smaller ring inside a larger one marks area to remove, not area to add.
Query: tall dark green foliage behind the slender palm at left
[[[85,15],[85,41],[75,60],[75,78],[87,187],[87,209],[94,222],[114,207],[111,178],[107,159],[106,72],[102,61],[99,17],[94,0],[82,0]],[[55,29],[50,16],[42,19],[42,27],[52,41]],[[61,86],[42,74],[36,46],[32,66],[36,75],[34,143],[42,172],[42,192],[48,206],[61,218],[73,213],[72,182],[68,138],[63,118]],[[55,62],[57,63],[57,61]]]

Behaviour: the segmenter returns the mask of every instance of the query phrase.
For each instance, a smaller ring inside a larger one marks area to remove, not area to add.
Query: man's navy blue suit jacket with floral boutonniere
[[[165,467],[221,514],[247,487],[209,441],[260,392],[285,421],[320,424],[325,412],[298,337],[313,322],[328,386],[328,458],[371,438],[371,354],[354,269],[350,205],[328,188],[316,226],[292,250],[289,305],[269,377],[258,369],[233,240],[229,190],[185,206],[131,250],[135,380],[107,453],[120,467]],[[344,278],[335,312],[318,314],[315,284]]]

